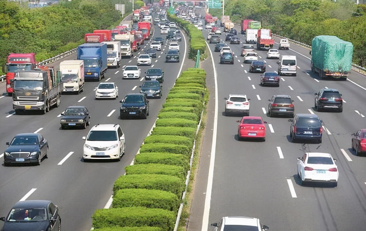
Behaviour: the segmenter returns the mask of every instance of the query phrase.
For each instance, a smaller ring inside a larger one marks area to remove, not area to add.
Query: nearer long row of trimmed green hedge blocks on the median
[[[195,68],[176,80],[134,165],[115,181],[112,208],[98,209],[92,216],[94,228],[173,230],[203,101],[208,99],[205,80],[205,71]]]

